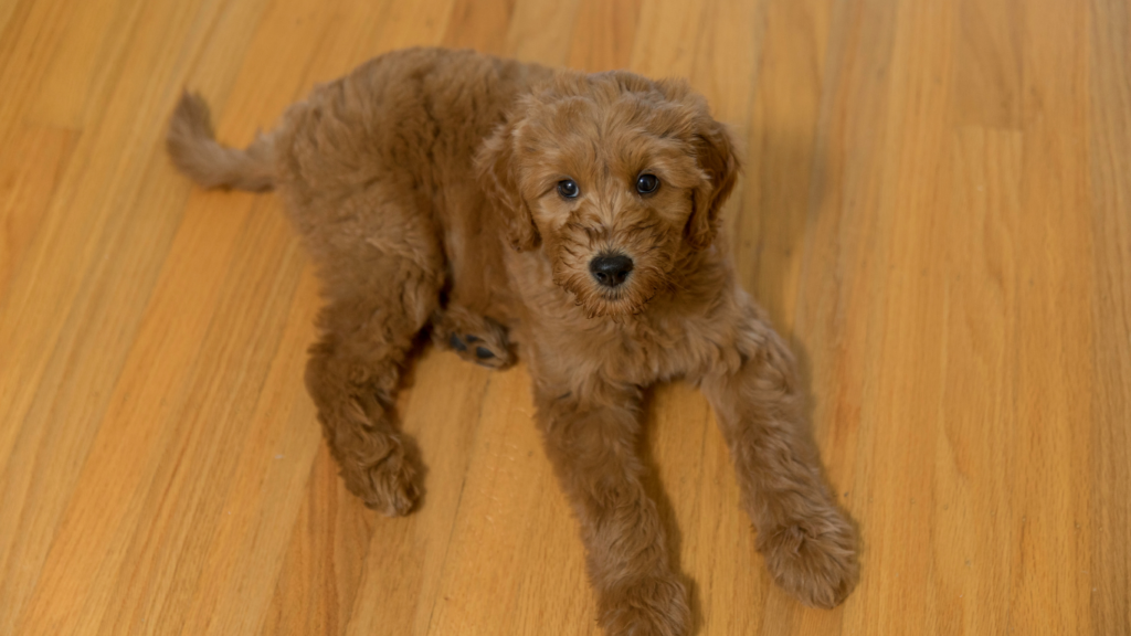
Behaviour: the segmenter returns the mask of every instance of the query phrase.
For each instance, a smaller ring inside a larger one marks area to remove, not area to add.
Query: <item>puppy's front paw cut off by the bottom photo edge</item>
[[[671,575],[647,576],[601,594],[601,625],[610,636],[683,636],[688,591]]]

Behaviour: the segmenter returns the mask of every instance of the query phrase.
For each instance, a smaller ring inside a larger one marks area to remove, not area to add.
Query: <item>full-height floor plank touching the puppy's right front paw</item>
[[[898,9],[880,1],[832,8],[794,318],[793,347],[811,378],[812,426],[826,476],[861,536],[861,581],[836,616],[798,611],[770,593],[761,621],[767,634],[803,633],[800,621],[827,621],[830,633],[890,629],[884,621],[898,613],[890,608],[908,590],[906,575],[879,557],[883,524],[906,523],[905,508],[897,518],[880,512],[893,496],[880,478],[891,458],[880,449],[893,429],[909,426],[881,414],[895,403],[880,386],[891,377],[880,356],[890,328],[882,311],[883,277],[892,267],[888,160],[900,141],[889,126]],[[908,555],[916,549],[905,548]]]

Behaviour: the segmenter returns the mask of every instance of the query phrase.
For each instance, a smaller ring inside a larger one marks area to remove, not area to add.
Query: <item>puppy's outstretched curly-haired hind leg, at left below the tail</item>
[[[343,207],[336,223],[307,235],[328,300],[307,389],[349,491],[405,515],[421,492],[420,457],[394,426],[394,407],[406,354],[439,306],[442,257],[422,215],[375,192]]]

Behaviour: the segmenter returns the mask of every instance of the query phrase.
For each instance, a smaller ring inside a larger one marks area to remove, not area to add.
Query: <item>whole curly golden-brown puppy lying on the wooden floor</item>
[[[169,151],[206,187],[284,197],[327,300],[307,386],[371,508],[403,515],[420,492],[389,410],[430,327],[469,360],[527,361],[610,634],[688,629],[637,448],[641,392],[671,378],[714,405],[775,581],[824,608],[852,591],[855,538],[793,358],[717,237],[733,145],[685,83],[415,49],[319,86],[243,151],[185,96]]]

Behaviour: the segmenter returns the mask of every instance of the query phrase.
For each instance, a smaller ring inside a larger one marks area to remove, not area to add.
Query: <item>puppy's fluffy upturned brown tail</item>
[[[242,151],[222,146],[200,95],[181,96],[169,122],[165,147],[176,167],[205,188],[269,190],[274,186],[274,136],[256,135]]]

